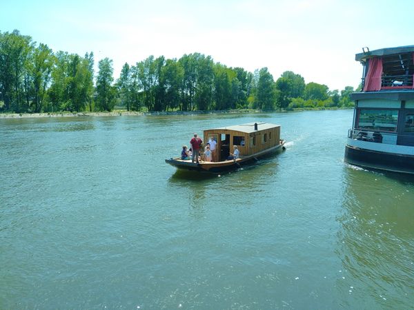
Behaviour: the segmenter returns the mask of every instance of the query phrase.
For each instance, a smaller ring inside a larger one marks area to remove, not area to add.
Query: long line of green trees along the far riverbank
[[[211,56],[180,59],[148,56],[125,63],[117,80],[105,58],[94,72],[94,54],[53,52],[48,45],[13,32],[0,32],[1,112],[193,110],[292,110],[348,107],[353,87],[330,91],[286,71],[276,81],[267,68],[247,72],[215,63]]]

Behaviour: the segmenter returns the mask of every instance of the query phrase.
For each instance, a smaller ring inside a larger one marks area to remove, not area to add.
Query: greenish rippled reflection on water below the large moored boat
[[[393,309],[412,307],[414,183],[406,176],[347,169],[337,254],[352,276],[349,293]],[[404,187],[401,184],[404,184]],[[348,288],[345,288],[348,289]]]

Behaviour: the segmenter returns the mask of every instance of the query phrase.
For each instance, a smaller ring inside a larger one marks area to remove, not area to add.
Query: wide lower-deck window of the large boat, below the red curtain
[[[357,127],[364,130],[397,131],[398,110],[359,110]]]

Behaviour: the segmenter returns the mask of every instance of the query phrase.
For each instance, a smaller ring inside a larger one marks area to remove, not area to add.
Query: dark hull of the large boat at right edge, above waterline
[[[345,161],[364,168],[414,174],[413,155],[379,152],[346,145]]]

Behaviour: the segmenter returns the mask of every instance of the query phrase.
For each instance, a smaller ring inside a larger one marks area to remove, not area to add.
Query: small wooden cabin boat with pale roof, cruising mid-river
[[[229,127],[220,127],[204,130],[204,145],[209,138],[217,142],[217,161],[200,161],[193,163],[191,160],[181,160],[181,157],[166,159],[166,163],[180,168],[200,172],[223,172],[229,169],[237,169],[244,163],[284,149],[285,141],[280,138],[280,125],[270,123],[247,123]],[[228,160],[230,149],[233,145],[239,149],[239,158]]]

